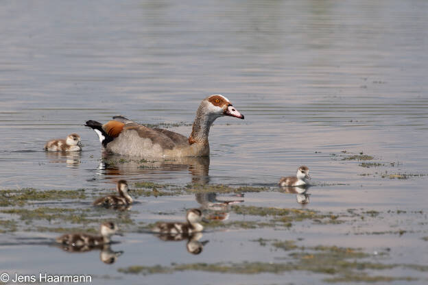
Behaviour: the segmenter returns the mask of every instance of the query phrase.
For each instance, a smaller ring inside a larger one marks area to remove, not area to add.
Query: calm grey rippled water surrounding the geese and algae
[[[313,210],[425,210],[427,13],[428,2],[422,0],[2,1],[0,188],[106,189],[114,188],[118,177],[177,185],[202,179],[274,186],[281,175],[306,164],[316,184],[333,185],[311,188],[308,207]],[[169,129],[188,135],[196,108],[211,94],[228,97],[246,119],[215,122],[208,168],[196,160],[152,169],[132,163],[106,167],[96,134],[82,126],[88,119],[104,122],[122,114],[142,123],[180,123]],[[82,153],[43,151],[48,139],[72,132],[82,136]],[[331,155],[344,150],[363,151],[379,163],[400,163],[373,170]],[[425,176],[361,176],[375,171]],[[294,195],[276,192],[248,194],[246,205],[300,207]],[[142,221],[157,221],[164,217],[153,214],[156,210],[195,206],[193,196],[182,195],[143,199],[132,210]],[[396,247],[393,261],[427,264],[427,242],[420,240],[427,236],[426,223],[414,227],[419,236],[409,238],[347,236],[346,230],[332,234],[305,227],[293,233],[213,232],[204,234],[210,243],[200,256],[190,256],[185,243],[130,234],[119,238],[115,250],[125,254],[110,267],[99,262],[98,252],[82,260],[50,247],[9,246],[1,249],[0,268],[111,275],[119,281],[97,282],[141,284],[139,275],[116,269],[274,260],[275,253],[246,243],[261,236],[305,236],[308,244],[369,250]],[[14,234],[20,235],[32,233]],[[49,261],[40,262],[40,252],[49,253]],[[298,272],[289,276],[296,284],[322,280]],[[150,275],[143,282],[180,284],[177,280],[276,284],[284,276],[183,272]],[[418,282],[425,281],[411,283]]]

